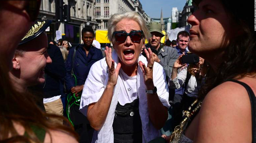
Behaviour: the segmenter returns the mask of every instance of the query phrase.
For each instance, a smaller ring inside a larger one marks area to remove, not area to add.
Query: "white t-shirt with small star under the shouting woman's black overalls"
[[[133,100],[139,97],[137,93],[136,75],[128,76],[122,69],[120,69],[119,75],[123,82],[120,84],[122,96],[118,97],[118,102],[121,105],[125,105],[126,103],[133,102]]]

